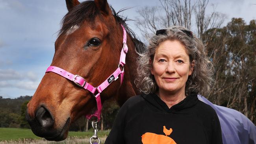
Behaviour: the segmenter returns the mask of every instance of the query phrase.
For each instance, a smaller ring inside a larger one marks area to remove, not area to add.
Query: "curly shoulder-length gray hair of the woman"
[[[185,86],[186,96],[191,92],[202,95],[210,92],[213,83],[213,65],[208,57],[206,57],[204,44],[195,35],[191,38],[183,30],[187,29],[182,26],[172,26],[167,28],[166,34],[154,35],[150,39],[147,50],[143,54],[140,54],[141,56],[137,61],[138,77],[135,79],[135,84],[141,92],[148,94],[155,93],[158,90],[158,85],[150,71],[153,66],[150,63],[150,59],[154,59],[159,44],[167,40],[181,42],[189,55],[190,66],[192,66],[191,63],[194,61],[193,72],[188,77]]]

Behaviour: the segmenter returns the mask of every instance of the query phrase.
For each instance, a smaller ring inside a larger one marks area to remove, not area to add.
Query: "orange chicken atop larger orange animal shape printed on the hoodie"
[[[165,135],[158,135],[155,133],[145,133],[141,136],[141,141],[143,144],[176,144],[176,142],[170,138],[167,137],[167,135],[171,135],[173,132],[173,129],[166,129],[165,126],[163,126],[163,133]]]

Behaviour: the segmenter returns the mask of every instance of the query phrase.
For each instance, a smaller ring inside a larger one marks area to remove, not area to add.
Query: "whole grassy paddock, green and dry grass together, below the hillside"
[[[104,143],[109,130],[99,131],[98,136],[101,143]],[[62,142],[50,142],[44,138],[35,136],[30,129],[0,128],[0,144],[89,144],[89,138],[93,135],[93,130],[88,132],[70,131],[69,136]]]

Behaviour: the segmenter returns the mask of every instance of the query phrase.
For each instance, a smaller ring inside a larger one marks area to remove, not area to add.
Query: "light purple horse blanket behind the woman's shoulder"
[[[198,99],[215,109],[221,123],[223,144],[256,144],[256,126],[242,113],[215,105],[204,96]]]

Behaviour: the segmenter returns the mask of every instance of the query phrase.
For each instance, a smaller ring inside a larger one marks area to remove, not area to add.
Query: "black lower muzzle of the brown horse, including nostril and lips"
[[[31,118],[26,111],[26,119],[30,124],[31,130],[38,137],[43,137],[46,140],[61,141],[64,140],[69,128],[70,118],[67,119],[65,126],[62,129],[54,128],[54,117],[45,107],[40,107],[35,113],[35,117]]]

